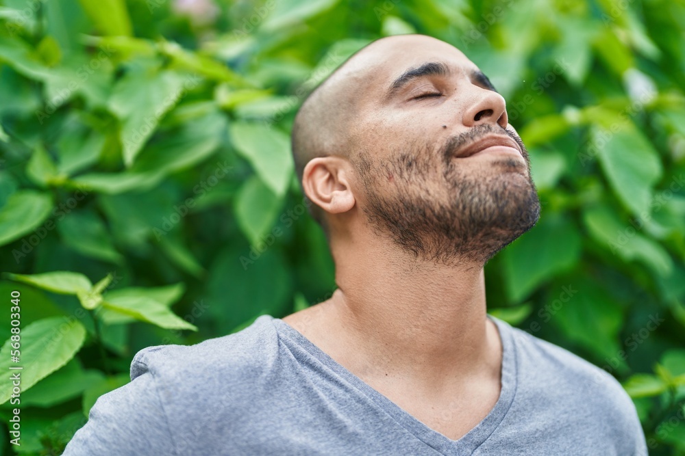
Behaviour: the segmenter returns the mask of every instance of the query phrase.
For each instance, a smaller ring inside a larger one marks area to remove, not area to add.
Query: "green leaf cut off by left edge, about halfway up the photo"
[[[47,219],[52,199],[47,193],[19,190],[8,198],[0,209],[0,245],[32,232]]]

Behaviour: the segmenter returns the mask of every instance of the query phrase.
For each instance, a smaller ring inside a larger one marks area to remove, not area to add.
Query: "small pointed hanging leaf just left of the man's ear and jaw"
[[[257,176],[242,185],[236,195],[236,219],[252,245],[256,245],[271,230],[281,207],[281,201]]]

